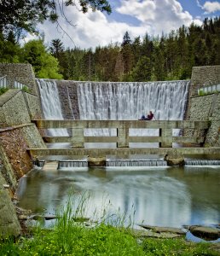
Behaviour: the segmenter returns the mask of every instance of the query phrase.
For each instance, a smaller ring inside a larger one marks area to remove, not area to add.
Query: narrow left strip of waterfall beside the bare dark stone
[[[63,119],[54,80],[37,79],[44,119]],[[48,129],[49,136],[68,136],[67,129]]]

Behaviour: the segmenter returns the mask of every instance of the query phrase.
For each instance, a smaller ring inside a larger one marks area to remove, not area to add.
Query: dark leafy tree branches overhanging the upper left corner
[[[20,32],[36,32],[36,26],[39,22],[50,20],[59,22],[61,13],[66,18],[65,8],[76,6],[75,0],[4,0],[0,1],[0,31],[6,32],[11,29]],[[86,13],[88,8],[106,11],[111,13],[111,7],[107,0],[78,0],[81,11]],[[67,20],[67,18],[66,18]],[[69,20],[68,20],[69,21]],[[70,21],[69,21],[70,23]]]

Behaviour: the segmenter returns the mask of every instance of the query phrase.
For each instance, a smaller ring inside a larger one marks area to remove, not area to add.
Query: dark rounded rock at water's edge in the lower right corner
[[[197,237],[205,240],[217,240],[220,238],[220,230],[206,226],[190,226],[188,230]]]

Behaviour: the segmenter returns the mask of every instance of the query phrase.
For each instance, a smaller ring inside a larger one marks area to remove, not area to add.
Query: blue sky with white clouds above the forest
[[[52,39],[60,38],[67,48],[96,49],[97,46],[123,41],[125,32],[131,40],[146,33],[149,36],[168,34],[180,26],[192,22],[202,24],[202,20],[220,16],[220,0],[109,0],[112,14],[100,11],[83,14],[76,7],[65,10],[67,20],[60,18],[60,26],[49,21],[38,26],[44,34],[44,42],[49,45]],[[65,32],[67,33],[65,33]],[[32,35],[26,41],[33,39]]]

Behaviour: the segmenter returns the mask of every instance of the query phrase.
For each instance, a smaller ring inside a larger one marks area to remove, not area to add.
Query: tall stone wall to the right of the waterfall
[[[186,119],[210,120],[211,127],[207,131],[200,131],[200,136],[206,136],[206,147],[219,147],[220,141],[220,93],[198,96],[198,89],[205,85],[220,83],[220,66],[194,67],[189,90],[188,109]],[[195,134],[187,130],[186,136]]]

